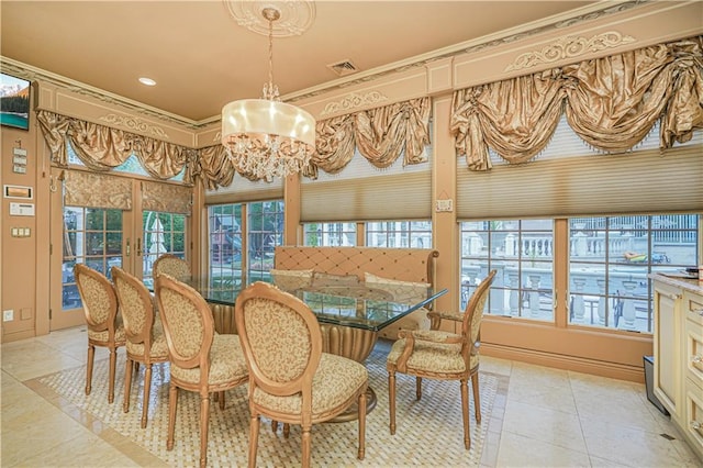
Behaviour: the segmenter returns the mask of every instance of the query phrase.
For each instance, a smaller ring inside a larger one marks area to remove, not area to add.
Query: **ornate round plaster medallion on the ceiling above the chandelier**
[[[270,33],[269,23],[263,15],[266,9],[274,9],[280,13],[280,18],[274,23],[274,37],[299,36],[315,21],[315,4],[308,0],[223,1],[239,26],[265,36]]]

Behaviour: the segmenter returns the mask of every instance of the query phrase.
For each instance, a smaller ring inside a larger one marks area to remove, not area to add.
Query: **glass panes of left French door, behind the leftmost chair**
[[[85,264],[111,277],[122,266],[122,211],[83,207],[64,208],[62,308],[81,307],[74,265]]]

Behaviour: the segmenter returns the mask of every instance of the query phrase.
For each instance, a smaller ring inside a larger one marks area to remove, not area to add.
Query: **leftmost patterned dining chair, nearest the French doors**
[[[78,293],[83,304],[88,325],[88,361],[86,365],[86,394],[92,386],[92,368],[96,346],[110,350],[110,376],[108,402],[114,401],[114,376],[118,363],[118,348],[124,346],[125,335],[122,317],[118,314],[118,298],[112,282],[100,271],[82,264],[74,266]]]

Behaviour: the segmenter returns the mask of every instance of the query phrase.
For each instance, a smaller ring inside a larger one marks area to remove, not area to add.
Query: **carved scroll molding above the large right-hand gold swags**
[[[618,47],[635,42],[635,37],[617,31],[607,31],[591,38],[583,36],[563,36],[545,46],[542,51],[521,54],[505,67],[505,71],[523,70],[544,64],[553,64],[566,58],[576,58],[584,54]]]

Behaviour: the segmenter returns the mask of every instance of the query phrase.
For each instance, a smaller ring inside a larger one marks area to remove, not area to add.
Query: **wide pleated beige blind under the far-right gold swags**
[[[568,126],[567,126],[568,129]],[[487,172],[457,159],[462,220],[703,211],[703,132],[663,153],[652,129],[626,154],[598,154],[560,124],[537,160]]]

